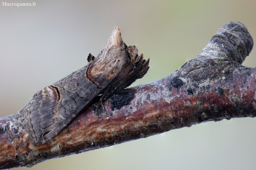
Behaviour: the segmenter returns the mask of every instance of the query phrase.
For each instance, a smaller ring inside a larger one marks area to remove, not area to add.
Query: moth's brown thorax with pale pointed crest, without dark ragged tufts
[[[107,46],[95,60],[92,60],[92,58],[92,55],[89,54],[88,61],[91,63],[88,68],[88,77],[99,87],[102,86],[102,82],[114,79],[126,65],[130,64],[127,46],[123,42],[119,28],[114,28]]]

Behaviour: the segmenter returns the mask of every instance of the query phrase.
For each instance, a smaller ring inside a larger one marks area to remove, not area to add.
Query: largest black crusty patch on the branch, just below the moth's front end
[[[134,91],[119,91],[112,95],[109,100],[111,103],[110,109],[121,109],[123,105],[130,105],[130,101],[134,98]]]

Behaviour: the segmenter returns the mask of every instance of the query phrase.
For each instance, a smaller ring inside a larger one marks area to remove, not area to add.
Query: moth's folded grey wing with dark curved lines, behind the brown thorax
[[[102,77],[99,85],[87,75],[90,65],[38,91],[28,102],[28,131],[31,142],[43,144],[68,123],[115,79],[124,65],[114,65],[116,74]],[[105,72],[105,74],[110,74]],[[21,111],[23,112],[23,111]]]

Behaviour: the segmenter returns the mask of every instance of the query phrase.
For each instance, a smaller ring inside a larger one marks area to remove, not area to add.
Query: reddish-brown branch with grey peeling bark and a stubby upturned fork
[[[31,144],[19,112],[0,118],[0,169],[31,167],[206,121],[254,117],[256,69],[241,65],[252,47],[247,28],[230,22],[170,76],[129,88],[135,95],[130,105],[112,111],[107,100],[99,119],[92,111],[95,100],[45,144]]]

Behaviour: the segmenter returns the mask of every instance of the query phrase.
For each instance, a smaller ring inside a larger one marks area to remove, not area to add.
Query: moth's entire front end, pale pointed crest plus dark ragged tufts
[[[116,85],[120,81],[124,81],[120,89],[126,88],[136,79],[142,78],[149,69],[149,60],[144,60],[143,54],[138,56],[136,46],[126,46],[117,27],[109,37],[107,46],[94,61],[93,58],[89,54],[88,61],[92,63],[86,77],[100,88],[105,88],[109,84]]]

